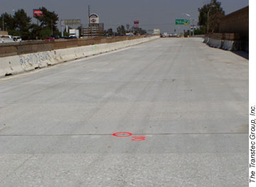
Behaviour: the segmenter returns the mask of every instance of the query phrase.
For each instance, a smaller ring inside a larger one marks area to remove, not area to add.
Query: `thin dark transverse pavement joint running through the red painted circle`
[[[188,133],[134,133],[132,135],[201,135],[201,134],[248,134],[248,132],[188,132]],[[110,136],[112,134],[0,134],[0,137],[72,137],[72,136]]]

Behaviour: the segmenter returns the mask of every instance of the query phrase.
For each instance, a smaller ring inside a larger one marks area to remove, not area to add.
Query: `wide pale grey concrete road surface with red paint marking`
[[[201,38],[2,78],[0,186],[247,186],[247,107],[248,60]]]

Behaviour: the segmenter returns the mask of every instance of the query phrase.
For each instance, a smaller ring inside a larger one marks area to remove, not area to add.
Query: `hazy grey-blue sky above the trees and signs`
[[[139,26],[149,30],[160,28],[162,32],[174,33],[174,29],[183,30],[188,26],[175,26],[176,18],[189,18],[191,15],[198,20],[198,7],[210,0],[1,0],[0,13],[6,11],[13,14],[14,10],[24,9],[28,16],[33,16],[33,9],[45,6],[49,11],[55,11],[59,20],[80,18],[82,24],[87,24],[87,6],[90,4],[91,13],[98,14],[100,23],[105,28],[117,28],[128,23],[133,25],[139,20]],[[248,0],[220,0],[225,14],[249,5]]]

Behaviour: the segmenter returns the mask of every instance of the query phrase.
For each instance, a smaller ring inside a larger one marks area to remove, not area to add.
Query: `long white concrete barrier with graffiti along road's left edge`
[[[159,36],[2,57],[0,58],[0,77],[22,73],[36,68],[45,68],[48,65],[85,58],[90,55],[106,53],[112,50],[151,41],[156,38],[159,38]]]

